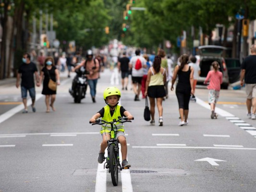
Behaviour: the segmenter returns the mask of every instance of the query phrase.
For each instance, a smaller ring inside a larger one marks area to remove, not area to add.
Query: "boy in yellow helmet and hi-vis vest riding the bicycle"
[[[113,119],[119,119],[120,117],[127,117],[128,120],[132,120],[133,116],[131,113],[127,110],[125,110],[122,106],[119,106],[119,99],[121,97],[121,92],[118,88],[116,87],[108,87],[105,89],[104,93],[104,100],[106,102],[106,106],[98,111],[90,121],[92,123],[95,122],[96,119],[102,118],[102,120],[105,121],[111,121]],[[123,168],[129,168],[131,165],[128,163],[126,160],[127,156],[127,144],[126,144],[126,138],[124,136],[124,126],[122,123],[117,122],[116,124],[117,127],[117,133],[116,133],[116,138],[118,139],[119,143],[121,144],[121,153],[122,153],[122,167]],[[102,135],[102,142],[100,144],[100,151],[98,154],[98,163],[103,163],[104,161],[104,154],[105,154],[105,149],[108,146],[108,140],[110,140],[110,130],[111,127],[109,127],[106,124],[103,124],[101,126],[100,133]]]

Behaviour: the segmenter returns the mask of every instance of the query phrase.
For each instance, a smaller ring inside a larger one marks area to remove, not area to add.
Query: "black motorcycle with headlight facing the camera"
[[[72,88],[69,89],[69,93],[74,98],[75,103],[81,103],[81,100],[85,98],[87,89],[86,74],[89,74],[84,67],[75,70],[76,76],[72,82]]]

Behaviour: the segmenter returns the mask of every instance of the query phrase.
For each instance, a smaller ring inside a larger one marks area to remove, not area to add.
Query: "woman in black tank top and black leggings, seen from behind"
[[[193,83],[194,83],[194,68],[188,65],[188,55],[183,54],[180,57],[180,65],[176,65],[173,72],[171,81],[171,91],[173,91],[173,85],[178,77],[178,84],[175,89],[175,94],[179,103],[179,113],[181,121],[179,126],[188,124],[188,111],[189,111],[189,100],[190,95],[194,94]]]

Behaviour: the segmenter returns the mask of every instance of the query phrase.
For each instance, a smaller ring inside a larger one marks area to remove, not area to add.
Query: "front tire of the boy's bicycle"
[[[118,185],[118,160],[117,160],[117,153],[115,151],[115,145],[110,145],[110,156],[109,156],[109,163],[110,163],[110,174],[111,180],[114,186]]]

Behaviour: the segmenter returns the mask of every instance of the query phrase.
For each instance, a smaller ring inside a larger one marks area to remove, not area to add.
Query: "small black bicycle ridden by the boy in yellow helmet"
[[[96,120],[95,123],[90,122],[92,123],[92,125],[103,125],[103,124],[111,125],[111,131],[110,131],[111,138],[110,140],[108,140],[108,157],[104,158],[104,160],[106,159],[104,168],[109,168],[109,173],[111,174],[111,180],[114,186],[118,185],[118,170],[122,171],[122,169],[128,169],[128,168],[123,168],[120,164],[119,146],[118,146],[119,142],[117,139],[115,139],[116,132],[117,132],[117,127],[115,123],[117,122],[124,123],[124,122],[132,122],[132,121],[128,120],[127,117],[124,117],[124,118],[120,117],[118,120],[113,119],[110,122],[107,122],[101,119]]]

